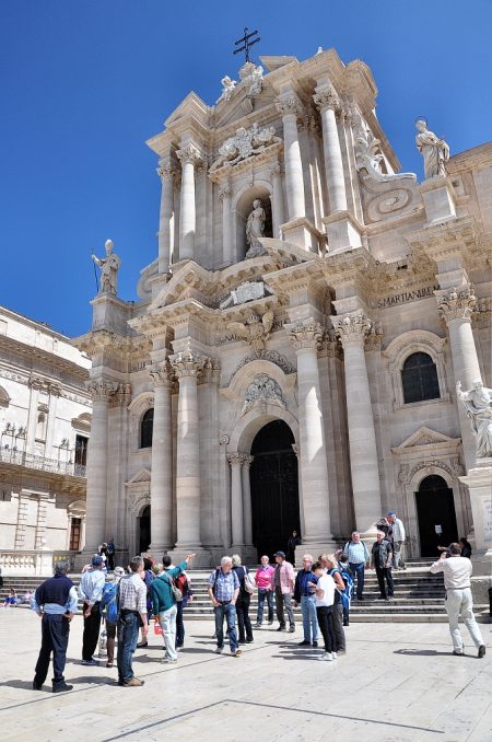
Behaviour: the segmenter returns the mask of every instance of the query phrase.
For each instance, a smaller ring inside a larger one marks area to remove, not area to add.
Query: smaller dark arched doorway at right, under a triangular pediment
[[[415,492],[421,556],[438,556],[437,546],[458,540],[453,489],[437,474],[422,479]],[[438,526],[438,527],[437,527]],[[441,533],[436,532],[441,530]]]

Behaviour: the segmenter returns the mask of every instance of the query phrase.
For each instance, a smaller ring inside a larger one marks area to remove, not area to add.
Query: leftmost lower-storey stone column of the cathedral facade
[[[92,394],[91,438],[87,448],[87,517],[84,552],[94,554],[105,537],[107,497],[107,430],[108,407],[118,384],[107,379],[87,382]]]

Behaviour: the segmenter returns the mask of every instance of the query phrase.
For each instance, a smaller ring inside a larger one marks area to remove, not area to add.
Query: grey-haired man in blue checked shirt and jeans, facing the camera
[[[222,557],[221,566],[209,577],[209,595],[215,614],[216,650],[224,649],[224,618],[227,622],[231,654],[241,657],[236,635],[236,600],[239,594],[239,580],[232,568],[231,557]]]

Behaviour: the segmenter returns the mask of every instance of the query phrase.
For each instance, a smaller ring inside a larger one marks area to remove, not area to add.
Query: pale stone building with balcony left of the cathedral
[[[16,573],[24,567],[28,571],[39,549],[78,552],[84,545],[90,366],[69,338],[0,308],[0,566],[4,573],[14,566]]]

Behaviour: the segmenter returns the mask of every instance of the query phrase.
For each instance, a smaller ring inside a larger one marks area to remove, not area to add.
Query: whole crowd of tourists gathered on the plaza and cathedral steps
[[[391,600],[394,584],[391,569],[398,569],[402,561],[401,547],[405,542],[405,529],[395,512],[389,512],[378,523],[376,541],[371,550],[358,532],[335,554],[320,554],[315,560],[311,554],[304,554],[302,568],[297,573],[284,552],[274,554],[274,565],[268,556],[261,557],[260,566],[249,571],[242,564],[241,556],[224,556],[220,567],[214,569],[208,580],[208,594],[212,602],[215,619],[216,653],[224,650],[226,636],[234,658],[242,656],[241,645],[254,641],[254,627],[263,624],[265,603],[267,603],[268,624],[273,624],[273,601],[276,605],[278,631],[295,633],[294,607],[301,606],[303,638],[300,648],[318,648],[323,638],[323,651],[315,657],[321,661],[333,661],[345,654],[344,627],[349,625],[350,602],[356,581],[355,598],[364,600],[364,572],[366,568],[376,570],[380,596]],[[470,577],[471,563],[466,540],[461,544],[450,544],[444,548],[438,561],[432,565],[432,572],[444,572],[446,587],[446,611],[453,637],[454,654],[464,653],[462,639],[458,628],[459,615],[479,649],[479,657],[485,653],[479,627],[472,612]],[[398,544],[399,548],[395,547]],[[462,552],[461,552],[462,548]],[[471,552],[469,552],[471,553]],[[68,578],[69,565],[58,561],[55,577],[46,580],[36,590],[32,607],[42,617],[42,649],[35,669],[33,688],[40,689],[48,672],[52,652],[52,691],[70,691],[73,686],[65,681],[63,670],[68,646],[70,622],[77,611],[79,598],[83,601],[84,629],[82,638],[82,664],[95,665],[94,657],[99,639],[101,622],[106,624],[107,668],[114,666],[115,641],[118,639],[117,668],[118,684],[127,687],[143,685],[136,677],[132,658],[138,647],[148,644],[149,622],[154,616],[161,626],[164,639],[164,656],[161,662],[176,665],[177,652],[184,641],[183,607],[186,599],[191,600],[189,580],[186,570],[194,554],[177,566],[171,557],[164,555],[161,563],[136,556],[127,571],[116,567],[113,580],[106,582],[103,556],[92,557],[90,567],[83,572],[77,592]],[[255,626],[249,617],[251,594],[258,592],[258,608]],[[180,622],[178,615],[180,613]],[[180,623],[180,626],[178,626]],[[237,624],[237,629],[236,629]],[[138,642],[139,630],[142,640]]]

